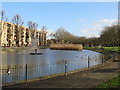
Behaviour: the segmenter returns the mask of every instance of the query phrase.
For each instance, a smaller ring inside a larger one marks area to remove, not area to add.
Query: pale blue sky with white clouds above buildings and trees
[[[19,14],[28,21],[46,26],[49,33],[63,27],[76,36],[99,37],[106,25],[118,18],[117,2],[2,2],[8,22]]]

